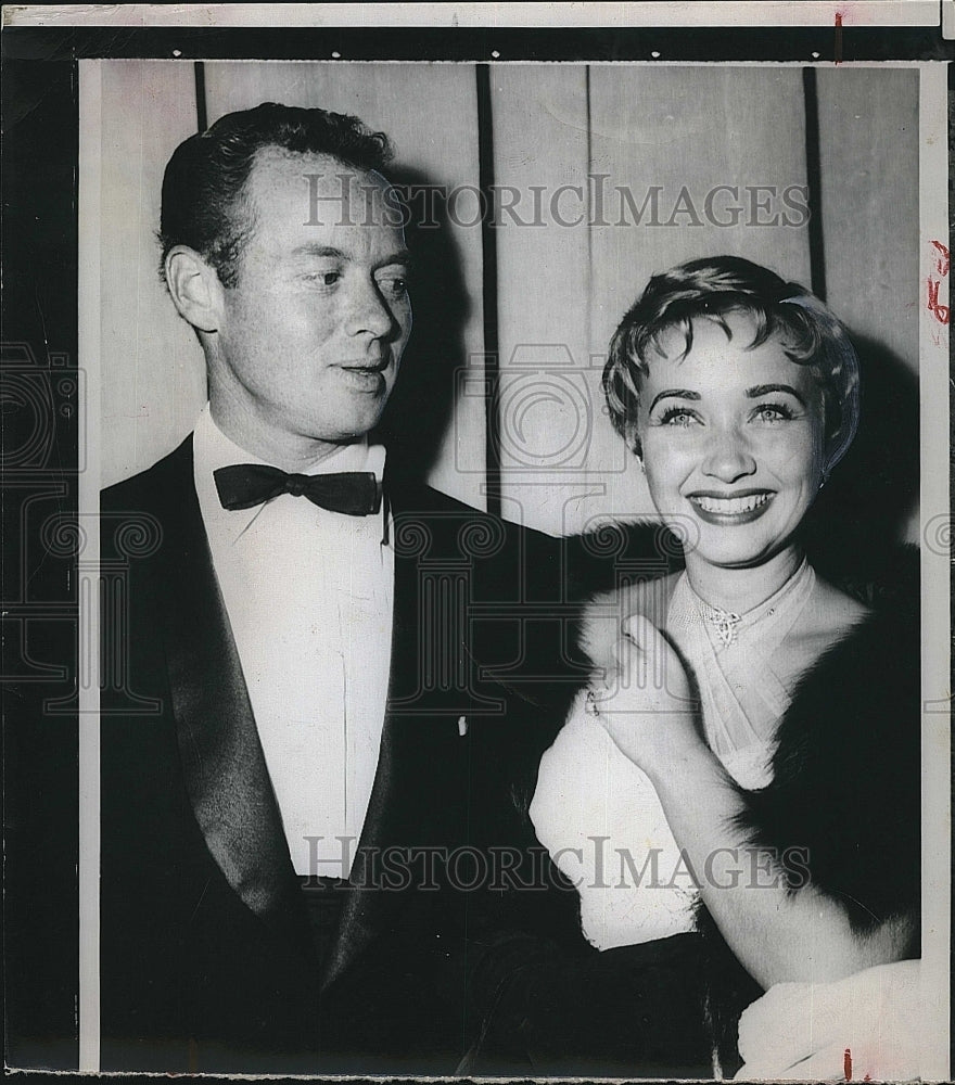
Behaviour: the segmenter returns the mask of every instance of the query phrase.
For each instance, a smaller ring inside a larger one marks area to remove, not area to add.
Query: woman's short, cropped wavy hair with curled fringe
[[[788,358],[807,366],[823,393],[826,474],[842,458],[858,424],[858,359],[845,328],[799,283],[737,256],[690,260],[654,275],[624,316],[610,343],[603,394],[614,429],[637,455],[640,390],[652,355],[663,356],[661,339],[678,330],[682,357],[693,345],[693,321],[709,319],[730,337],[730,312],[748,314],[755,326],[750,348],[774,336]]]

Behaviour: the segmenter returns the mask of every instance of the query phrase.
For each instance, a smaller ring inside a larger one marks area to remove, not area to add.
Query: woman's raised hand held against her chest
[[[623,623],[612,655],[604,686],[588,700],[613,741],[652,778],[702,746],[697,703],[679,656],[642,614]]]

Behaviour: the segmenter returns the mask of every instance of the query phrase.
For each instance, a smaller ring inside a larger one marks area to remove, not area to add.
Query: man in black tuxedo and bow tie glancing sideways
[[[102,498],[127,600],[104,641],[103,1069],[448,1072],[470,1042],[462,883],[487,872],[441,860],[510,834],[495,773],[533,773],[562,718],[535,658],[562,618],[532,651],[521,617],[561,577],[549,541],[369,444],[411,332],[386,161],[355,118],[264,104],[166,169],[163,273],[209,403]]]

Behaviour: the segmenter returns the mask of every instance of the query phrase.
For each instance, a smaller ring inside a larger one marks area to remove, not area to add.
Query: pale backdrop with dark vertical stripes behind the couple
[[[383,430],[438,489],[555,535],[650,512],[602,410],[607,344],[651,273],[734,254],[849,326],[864,426],[837,497],[914,536],[917,72],[96,63],[104,485],[175,447],[205,398],[156,270],[164,165],[199,127],[275,101],[356,114],[396,146],[415,330]]]

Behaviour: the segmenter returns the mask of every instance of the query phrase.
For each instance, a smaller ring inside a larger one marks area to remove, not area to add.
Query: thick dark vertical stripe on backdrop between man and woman
[[[487,511],[500,515],[500,434],[498,426],[498,360],[497,334],[497,235],[494,232],[494,117],[491,107],[491,65],[479,64],[478,79],[478,183],[482,193],[481,254],[482,293],[484,299],[484,379],[485,399],[485,483]]]

